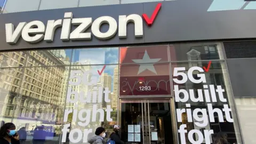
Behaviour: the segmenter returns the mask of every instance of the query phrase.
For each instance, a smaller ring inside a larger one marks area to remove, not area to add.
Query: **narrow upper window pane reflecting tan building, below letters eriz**
[[[70,65],[71,51],[70,49],[28,51],[27,66]]]

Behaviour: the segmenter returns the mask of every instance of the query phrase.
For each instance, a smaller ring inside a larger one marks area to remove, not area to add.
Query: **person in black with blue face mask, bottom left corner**
[[[0,128],[1,144],[20,144],[19,134],[16,132],[16,126],[13,123],[6,123]]]

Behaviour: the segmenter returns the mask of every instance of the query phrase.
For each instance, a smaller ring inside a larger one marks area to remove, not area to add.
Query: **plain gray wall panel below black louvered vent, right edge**
[[[228,72],[234,97],[256,97],[256,58],[255,59],[228,59]]]

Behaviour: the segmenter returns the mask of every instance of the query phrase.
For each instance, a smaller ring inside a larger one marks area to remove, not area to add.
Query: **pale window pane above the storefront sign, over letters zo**
[[[80,0],[79,1],[79,7],[83,6],[95,6],[95,5],[112,5],[112,4],[120,4],[119,0]]]

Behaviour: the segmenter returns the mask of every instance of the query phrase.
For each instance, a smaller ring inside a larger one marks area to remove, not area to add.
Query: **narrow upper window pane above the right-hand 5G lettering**
[[[181,43],[170,45],[171,61],[224,59],[219,43]]]

